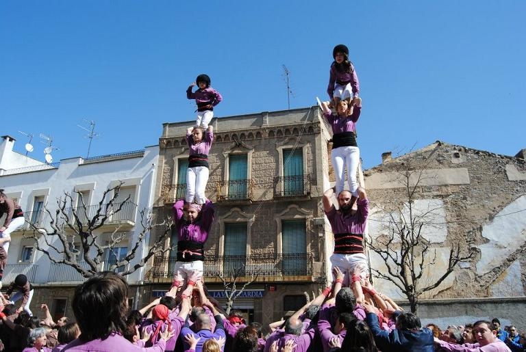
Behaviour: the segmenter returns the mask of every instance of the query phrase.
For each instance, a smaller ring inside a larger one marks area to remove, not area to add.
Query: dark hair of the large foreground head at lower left
[[[96,273],[77,286],[73,295],[73,313],[82,331],[79,338],[91,341],[104,340],[113,331],[126,329],[128,285],[117,273]]]

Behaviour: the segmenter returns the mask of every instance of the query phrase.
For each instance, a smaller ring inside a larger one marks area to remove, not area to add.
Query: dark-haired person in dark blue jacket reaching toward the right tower
[[[364,303],[366,322],[373,331],[377,347],[382,352],[419,351],[434,352],[433,332],[422,328],[420,319],[410,312],[397,315],[396,328],[388,332],[380,329],[378,308]]]

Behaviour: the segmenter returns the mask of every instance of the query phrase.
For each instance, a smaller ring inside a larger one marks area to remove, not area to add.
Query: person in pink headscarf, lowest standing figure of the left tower
[[[203,277],[204,245],[214,221],[214,206],[206,200],[203,206],[178,200],[173,204],[177,233],[177,262],[171,289],[166,295],[175,297],[187,279],[184,297],[190,297],[196,282]]]

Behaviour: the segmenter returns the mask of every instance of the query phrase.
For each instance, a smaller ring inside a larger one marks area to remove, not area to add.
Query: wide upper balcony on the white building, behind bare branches
[[[119,207],[121,211],[118,213],[113,213]],[[99,204],[87,205],[87,206],[77,206],[76,208],[66,208],[64,209],[65,213],[68,215],[71,224],[75,224],[75,217],[73,216],[73,211],[77,214],[77,217],[82,222],[82,224],[88,224],[88,221],[93,219],[97,214],[99,209]],[[115,225],[121,226],[122,230],[131,230],[135,226],[135,217],[137,213],[137,204],[132,202],[123,202],[123,203],[114,203],[112,206],[102,206],[100,217],[103,217],[106,213],[110,213],[108,219],[104,222],[105,225],[114,227]],[[100,219],[99,217],[99,219]],[[100,220],[99,220],[100,221]]]

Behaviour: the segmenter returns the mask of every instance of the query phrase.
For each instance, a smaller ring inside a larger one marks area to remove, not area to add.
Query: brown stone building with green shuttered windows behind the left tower
[[[171,216],[175,200],[184,198],[185,135],[192,124],[163,126],[157,217]],[[224,303],[221,275],[229,281],[232,269],[242,268],[238,288],[257,275],[234,308],[250,321],[270,323],[303,306],[303,293],[318,293],[327,280],[331,240],[325,239],[321,196],[329,188],[329,130],[318,107],[230,116],[213,126],[206,195],[215,221],[205,244],[205,282]],[[173,240],[166,245],[176,245]],[[147,269],[152,298],[171,284],[174,257],[175,250]]]

